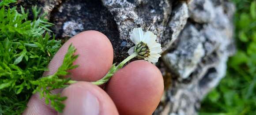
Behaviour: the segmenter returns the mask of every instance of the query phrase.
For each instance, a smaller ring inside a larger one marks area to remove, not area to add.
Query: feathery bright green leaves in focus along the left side
[[[72,62],[74,46],[70,45],[63,64],[57,72],[41,78],[49,61],[61,44],[51,37],[46,14],[41,9],[32,8],[34,19],[28,18],[28,11],[23,7],[20,13],[16,7],[9,7],[15,0],[0,0],[0,115],[19,115],[26,108],[26,103],[33,93],[44,97],[46,104],[51,104],[57,111],[62,111],[61,103],[67,97],[52,94],[54,89],[64,88],[70,78],[63,78]]]

